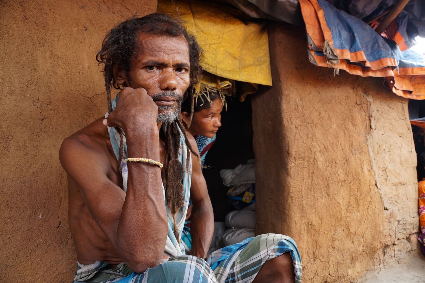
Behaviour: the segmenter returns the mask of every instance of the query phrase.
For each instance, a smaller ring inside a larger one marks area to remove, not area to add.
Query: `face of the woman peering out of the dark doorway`
[[[221,99],[217,98],[212,102],[210,108],[202,109],[193,115],[189,132],[193,136],[201,135],[212,138],[221,126],[221,111],[223,111],[223,104]]]

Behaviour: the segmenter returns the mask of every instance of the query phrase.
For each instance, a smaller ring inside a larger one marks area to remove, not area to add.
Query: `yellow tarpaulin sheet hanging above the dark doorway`
[[[272,85],[267,29],[219,7],[207,1],[158,0],[157,11],[183,21],[204,51],[201,65],[205,71],[240,82]]]

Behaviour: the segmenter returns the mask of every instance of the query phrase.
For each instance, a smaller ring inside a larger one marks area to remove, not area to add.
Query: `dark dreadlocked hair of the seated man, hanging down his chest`
[[[202,68],[199,65],[201,48],[195,38],[187,33],[181,23],[165,14],[150,14],[141,18],[132,17],[111,29],[103,40],[102,49],[97,53],[96,60],[99,62],[99,65],[104,64],[103,74],[105,76],[105,88],[108,96],[108,113],[112,111],[111,85],[116,89],[122,89],[115,81],[113,67],[119,65],[127,76],[127,79],[130,79],[129,73],[132,59],[136,57],[140,50],[143,50],[140,48],[137,40],[140,33],[172,37],[178,37],[183,34],[186,38],[189,45],[190,85],[184,93],[184,99],[189,99],[191,101],[190,119],[192,119],[194,101],[193,85],[195,85],[202,76]],[[161,172],[161,177],[165,188],[168,207],[173,214],[174,235],[176,235],[176,239],[178,239],[176,213],[178,209],[184,205],[183,185],[181,184],[183,178],[183,165],[178,160],[178,148],[180,147],[180,133],[178,127],[180,127],[183,132],[187,148],[195,156],[196,153],[193,151],[187,139],[186,131],[181,121],[181,114],[178,115],[178,119],[176,119],[175,122],[169,124],[163,123],[162,127],[166,130],[165,150],[167,152],[167,157]],[[121,168],[124,143],[122,142],[121,129],[116,127],[116,130],[121,137],[118,157],[118,166]],[[187,170],[189,169],[190,158],[190,154],[187,153]]]

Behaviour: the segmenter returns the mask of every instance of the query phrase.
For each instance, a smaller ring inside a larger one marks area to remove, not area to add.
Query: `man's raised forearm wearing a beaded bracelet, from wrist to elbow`
[[[159,161],[157,127],[126,133],[126,142],[128,157]],[[117,227],[116,244],[123,261],[140,273],[161,262],[168,233],[167,212],[161,169],[144,162],[129,162],[127,168],[127,192]]]

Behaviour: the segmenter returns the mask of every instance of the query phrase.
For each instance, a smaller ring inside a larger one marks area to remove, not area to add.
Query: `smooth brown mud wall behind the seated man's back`
[[[70,282],[62,140],[106,110],[106,32],[156,0],[1,1],[0,282]]]

